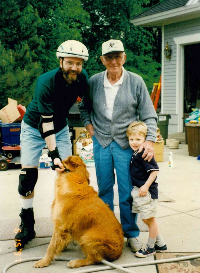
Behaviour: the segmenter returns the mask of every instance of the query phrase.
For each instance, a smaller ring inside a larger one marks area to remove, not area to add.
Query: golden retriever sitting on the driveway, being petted
[[[89,172],[78,156],[62,161],[52,204],[54,231],[44,258],[34,267],[48,266],[72,241],[79,242],[85,259],[71,260],[70,268],[113,261],[123,249],[123,230],[114,213],[89,186]]]

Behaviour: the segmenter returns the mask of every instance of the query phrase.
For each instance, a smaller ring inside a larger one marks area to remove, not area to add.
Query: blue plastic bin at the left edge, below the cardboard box
[[[0,148],[9,144],[20,145],[20,132],[21,123],[0,123]]]

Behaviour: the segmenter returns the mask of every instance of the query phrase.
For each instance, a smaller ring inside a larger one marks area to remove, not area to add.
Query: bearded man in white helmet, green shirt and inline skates
[[[33,100],[21,123],[21,164],[18,191],[21,200],[21,224],[15,236],[17,251],[35,236],[33,197],[38,179],[38,163],[47,145],[52,169],[63,171],[61,160],[71,155],[68,114],[77,97],[87,90],[87,72],[82,69],[88,59],[83,43],[67,40],[57,49],[60,67],[38,78]]]

